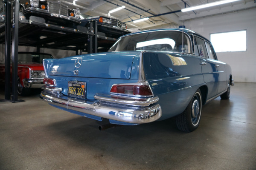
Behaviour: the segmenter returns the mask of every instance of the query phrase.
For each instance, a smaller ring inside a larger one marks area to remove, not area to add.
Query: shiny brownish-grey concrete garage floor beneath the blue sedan
[[[53,108],[39,93],[19,99],[0,102],[0,170],[256,170],[256,83],[205,105],[192,133],[174,119],[99,131],[107,121]]]

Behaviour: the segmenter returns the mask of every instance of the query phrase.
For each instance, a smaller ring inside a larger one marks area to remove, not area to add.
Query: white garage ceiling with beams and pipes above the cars
[[[142,30],[157,27],[178,27],[182,25],[182,20],[256,8],[255,0],[239,0],[189,12],[181,12],[180,9],[184,8],[185,4],[186,7],[189,7],[218,0],[77,0],[76,6],[73,5],[73,0],[63,1],[68,3],[70,8],[79,7],[81,13],[90,16],[108,15],[108,11],[118,6],[125,6],[124,9],[112,13],[111,16],[125,22],[127,28],[140,28]],[[171,12],[174,13],[169,14]],[[140,23],[132,22],[132,20],[143,17],[149,17],[149,20]]]

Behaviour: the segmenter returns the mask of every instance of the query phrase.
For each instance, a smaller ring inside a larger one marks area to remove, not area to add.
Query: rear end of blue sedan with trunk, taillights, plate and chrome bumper
[[[138,79],[140,52],[87,54],[45,60],[41,98],[92,119],[137,125],[160,118],[161,108],[146,81]],[[73,67],[69,67],[70,61]],[[100,69],[99,69],[100,68]]]

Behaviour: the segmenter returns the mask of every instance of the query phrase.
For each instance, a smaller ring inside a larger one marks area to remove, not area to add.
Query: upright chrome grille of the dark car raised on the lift
[[[68,16],[68,6],[58,1],[48,1],[48,12]]]

